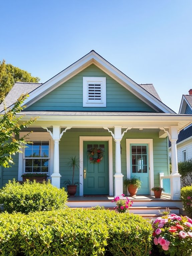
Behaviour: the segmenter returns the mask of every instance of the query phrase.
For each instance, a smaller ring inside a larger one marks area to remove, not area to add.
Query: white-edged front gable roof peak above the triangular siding
[[[74,62],[68,68],[64,69],[59,74],[30,92],[29,97],[25,100],[23,105],[26,105],[27,107],[32,105],[34,102],[41,99],[46,94],[48,94],[49,92],[81,72],[83,69],[90,66],[91,64],[99,67],[106,74],[116,80],[119,84],[124,86],[127,90],[136,95],[147,105],[152,107],[155,111],[164,113],[175,113],[173,110],[171,110],[169,107],[161,102],[152,84],[139,85],[135,83],[133,80],[131,80],[124,73],[115,68],[111,63],[109,63],[94,50],[90,51],[88,54]]]

